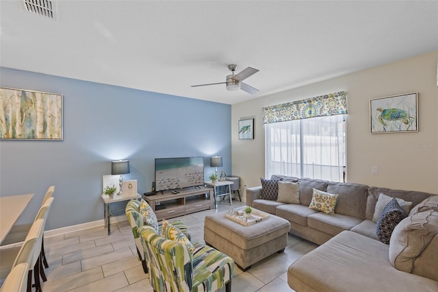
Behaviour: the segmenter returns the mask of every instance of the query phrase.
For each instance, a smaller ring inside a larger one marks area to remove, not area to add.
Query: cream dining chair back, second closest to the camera
[[[29,269],[33,269],[38,257],[40,256],[42,233],[44,232],[44,219],[37,219],[32,224],[25,242],[18,252],[12,268],[21,263],[27,263]]]

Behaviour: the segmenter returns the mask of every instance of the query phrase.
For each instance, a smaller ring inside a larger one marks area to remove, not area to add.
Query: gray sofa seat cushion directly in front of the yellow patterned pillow
[[[335,236],[344,230],[350,230],[362,219],[342,214],[326,214],[317,212],[307,217],[307,226]]]

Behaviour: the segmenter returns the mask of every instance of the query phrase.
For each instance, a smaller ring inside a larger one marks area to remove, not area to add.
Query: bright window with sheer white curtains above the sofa
[[[346,97],[344,92],[342,94],[336,97]],[[287,106],[298,108],[300,103],[309,105],[309,101],[314,99],[317,98],[263,108],[263,115],[266,117],[266,178],[270,178],[272,174],[282,174],[344,182],[346,108],[342,114],[307,118],[305,114],[308,112],[302,110],[300,117],[294,117],[289,121],[284,114],[281,116],[282,121],[268,121],[268,118],[280,117],[280,110],[282,113],[287,112]],[[289,112],[300,114],[300,111],[294,108]]]

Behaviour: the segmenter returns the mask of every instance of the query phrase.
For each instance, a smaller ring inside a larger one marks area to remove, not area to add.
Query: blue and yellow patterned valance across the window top
[[[339,91],[338,93],[263,108],[263,123],[279,123],[346,113],[348,113],[347,93]]]

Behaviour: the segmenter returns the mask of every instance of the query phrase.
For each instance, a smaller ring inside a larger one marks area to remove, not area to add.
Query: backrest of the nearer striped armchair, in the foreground
[[[139,228],[154,291],[192,291],[192,254],[182,243],[157,234],[151,226]]]

